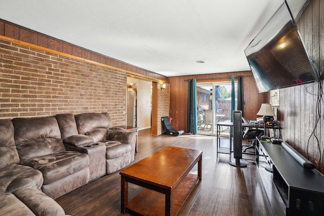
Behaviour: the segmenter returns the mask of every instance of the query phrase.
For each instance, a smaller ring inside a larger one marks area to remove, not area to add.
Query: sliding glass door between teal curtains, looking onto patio
[[[197,82],[197,126],[198,134],[216,135],[217,121],[231,120],[231,81]],[[237,82],[235,81],[235,106],[237,104]],[[229,133],[229,128],[222,128]]]

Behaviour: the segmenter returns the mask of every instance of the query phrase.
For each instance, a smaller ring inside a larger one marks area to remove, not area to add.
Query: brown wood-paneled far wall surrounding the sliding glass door
[[[206,82],[222,80],[231,76],[243,76],[244,84],[244,116],[247,119],[256,119],[262,103],[266,101],[266,93],[258,93],[251,71],[215,73],[191,76],[173,76],[170,81],[170,117],[175,129],[187,131],[187,104],[188,104],[188,79],[196,78]]]

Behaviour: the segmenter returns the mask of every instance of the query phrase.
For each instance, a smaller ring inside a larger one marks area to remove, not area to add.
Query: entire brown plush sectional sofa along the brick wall
[[[108,113],[0,119],[0,215],[64,215],[54,199],[134,160]]]

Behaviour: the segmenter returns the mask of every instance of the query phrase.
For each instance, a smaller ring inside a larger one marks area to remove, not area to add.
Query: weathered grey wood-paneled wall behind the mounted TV
[[[306,49],[312,60],[324,69],[324,1],[312,0],[297,22]],[[323,85],[323,77],[321,77]],[[308,158],[324,174],[324,103],[321,101],[320,119],[316,123],[318,83],[282,89],[278,120],[282,127],[282,138],[298,152]],[[316,138],[316,137],[317,138]],[[318,140],[318,141],[317,141]],[[320,167],[319,167],[320,165]]]

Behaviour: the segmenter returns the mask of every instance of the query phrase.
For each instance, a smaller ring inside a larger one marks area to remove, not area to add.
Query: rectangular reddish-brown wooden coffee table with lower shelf
[[[202,151],[167,146],[121,170],[121,212],[129,209],[141,215],[176,215],[201,181],[202,155]],[[197,174],[189,173],[197,163]],[[130,202],[129,182],[145,188]]]

